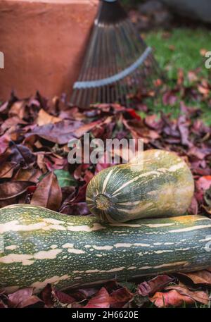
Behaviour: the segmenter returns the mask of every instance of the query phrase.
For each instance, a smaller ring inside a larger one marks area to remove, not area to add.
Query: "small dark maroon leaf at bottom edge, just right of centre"
[[[134,295],[127,290],[127,287],[122,287],[110,294],[110,307],[121,308],[133,298]]]

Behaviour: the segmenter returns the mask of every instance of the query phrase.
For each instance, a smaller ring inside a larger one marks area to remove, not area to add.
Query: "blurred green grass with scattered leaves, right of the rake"
[[[203,28],[196,30],[176,28],[168,34],[160,30],[157,32],[148,32],[144,36],[148,46],[155,49],[155,58],[167,74],[168,87],[175,87],[179,68],[184,70],[185,86],[191,85],[187,78],[188,71],[196,70],[196,68],[200,68],[200,72],[198,73],[200,77],[211,80],[211,69],[205,68],[205,58],[200,54],[201,49],[211,51],[210,30]],[[203,112],[203,120],[205,120],[205,123],[211,125],[211,107],[208,106],[208,99],[207,101],[196,101],[194,99],[181,98],[178,94],[178,101],[174,106],[164,106],[162,103],[162,95],[160,95],[156,99],[146,99],[146,104],[148,104],[152,113],[159,115],[160,111],[163,111],[165,113],[172,113],[172,117],[175,118],[180,113],[179,104],[181,99],[188,106],[200,108]]]

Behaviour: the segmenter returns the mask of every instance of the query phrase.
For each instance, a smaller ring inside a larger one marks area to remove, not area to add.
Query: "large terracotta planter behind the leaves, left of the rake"
[[[98,0],[0,0],[0,100],[70,95]]]

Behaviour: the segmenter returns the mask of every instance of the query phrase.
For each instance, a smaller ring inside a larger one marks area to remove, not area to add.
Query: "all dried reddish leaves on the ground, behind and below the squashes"
[[[191,73],[191,72],[190,72]],[[188,77],[193,76],[193,73]],[[195,75],[195,74],[194,74]],[[211,85],[196,82],[184,87],[179,73],[174,89],[164,89],[163,104],[191,95],[210,104]],[[183,93],[183,95],[181,95]],[[151,96],[148,93],[148,96]],[[211,128],[203,124],[200,110],[181,101],[181,116],[172,119],[139,111],[148,111],[140,97],[134,109],[117,104],[93,106],[79,110],[65,100],[46,101],[39,94],[19,100],[12,95],[0,106],[0,207],[26,203],[44,206],[68,215],[89,214],[85,202],[87,184],[110,164],[68,163],[68,142],[83,140],[85,132],[91,138],[142,138],[144,149],[175,151],[191,168],[196,193],[189,213],[211,214]],[[61,215],[62,216],[62,215]],[[48,285],[40,295],[32,288],[11,295],[0,291],[3,307],[140,307],[155,305],[181,306],[209,303],[211,270],[174,276],[160,275],[144,282],[118,284],[110,282],[102,288],[89,288],[64,294]],[[39,297],[38,297],[39,296]]]

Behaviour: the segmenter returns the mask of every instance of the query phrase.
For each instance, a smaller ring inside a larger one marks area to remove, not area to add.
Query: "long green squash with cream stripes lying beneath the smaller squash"
[[[0,288],[59,289],[211,265],[211,220],[203,216],[101,223],[41,207],[0,209]],[[4,247],[3,247],[4,246]]]

